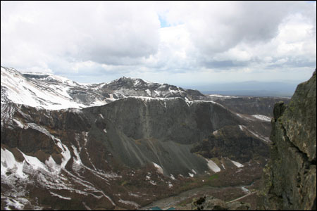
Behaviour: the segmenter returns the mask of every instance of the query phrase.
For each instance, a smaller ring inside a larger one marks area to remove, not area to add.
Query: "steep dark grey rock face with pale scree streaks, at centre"
[[[182,98],[125,98],[83,111],[89,122],[103,115],[104,119],[97,119],[96,123],[106,126],[104,142],[118,160],[130,167],[156,162],[167,175],[208,170],[206,160],[190,153],[192,144],[216,129],[240,121],[218,104],[189,105]],[[102,132],[103,128],[97,127]]]

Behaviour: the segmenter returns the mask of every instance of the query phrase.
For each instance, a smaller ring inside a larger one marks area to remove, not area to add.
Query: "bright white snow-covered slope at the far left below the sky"
[[[1,103],[18,103],[36,108],[58,110],[102,105],[100,97],[94,101],[76,98],[74,91],[85,90],[65,77],[38,73],[20,73],[1,67]]]

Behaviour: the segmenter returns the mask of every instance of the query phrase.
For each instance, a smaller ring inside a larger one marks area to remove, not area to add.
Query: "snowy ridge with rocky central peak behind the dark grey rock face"
[[[108,83],[83,85],[57,75],[1,67],[1,103],[58,110],[101,106],[128,96],[205,98],[199,91],[142,79],[121,77]]]

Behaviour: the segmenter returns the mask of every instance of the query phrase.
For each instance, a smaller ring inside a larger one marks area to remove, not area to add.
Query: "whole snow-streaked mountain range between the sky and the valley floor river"
[[[137,209],[197,186],[252,184],[278,101],[290,99],[1,67],[1,210]]]

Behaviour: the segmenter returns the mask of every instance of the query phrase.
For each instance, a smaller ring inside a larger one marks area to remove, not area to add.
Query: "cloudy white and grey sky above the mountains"
[[[1,1],[1,65],[82,83],[298,84],[316,68],[316,1]]]

